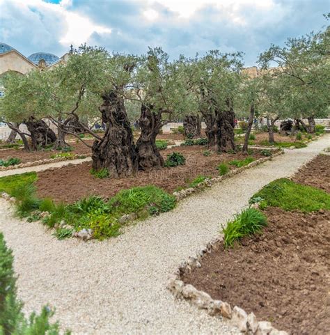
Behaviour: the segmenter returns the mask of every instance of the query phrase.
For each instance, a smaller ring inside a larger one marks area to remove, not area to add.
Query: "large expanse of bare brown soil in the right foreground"
[[[330,211],[265,213],[269,226],[262,235],[205,256],[184,281],[290,334],[327,334]]]

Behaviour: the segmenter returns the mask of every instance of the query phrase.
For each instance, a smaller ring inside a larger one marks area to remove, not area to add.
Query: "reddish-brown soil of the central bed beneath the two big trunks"
[[[221,162],[233,159],[244,159],[242,153],[221,154],[213,153],[205,157],[203,146],[181,146],[162,150],[162,155],[173,151],[180,152],[186,158],[186,164],[174,168],[164,168],[145,173],[139,171],[136,176],[130,178],[105,178],[97,179],[90,173],[91,163],[83,163],[76,166],[63,166],[59,169],[52,169],[38,173],[36,183],[38,196],[52,197],[55,201],[71,203],[92,194],[98,194],[104,198],[113,196],[121,189],[129,189],[136,186],[155,185],[165,189],[167,192],[174,192],[177,187],[187,187],[187,184],[197,176],[218,176],[216,167]],[[258,150],[255,150],[253,157],[263,157]],[[230,169],[234,169],[230,166]]]

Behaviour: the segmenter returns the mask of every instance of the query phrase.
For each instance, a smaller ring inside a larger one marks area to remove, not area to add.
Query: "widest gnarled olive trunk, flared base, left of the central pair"
[[[108,169],[109,176],[130,176],[137,170],[134,138],[123,97],[116,91],[102,95],[102,122],[107,129],[92,147],[93,169]]]

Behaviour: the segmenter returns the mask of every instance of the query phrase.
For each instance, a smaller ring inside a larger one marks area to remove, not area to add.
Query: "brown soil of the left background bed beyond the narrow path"
[[[79,141],[79,140],[78,140]],[[93,141],[86,141],[88,145],[92,145]],[[77,155],[91,155],[91,148],[85,146],[81,141],[70,142],[68,143],[70,146],[74,148],[71,153]],[[40,150],[40,151],[25,151],[22,149],[8,149],[8,150],[0,150],[0,159],[9,159],[10,157],[19,158],[22,160],[22,163],[26,162],[35,162],[40,159],[50,158],[51,155],[55,155],[56,153],[61,153],[61,150]]]

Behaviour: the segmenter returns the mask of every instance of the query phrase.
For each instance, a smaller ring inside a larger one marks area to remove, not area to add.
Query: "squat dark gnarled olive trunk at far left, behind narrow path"
[[[37,120],[31,116],[24,123],[30,132],[32,150],[38,150],[39,147],[48,146],[56,141],[56,134],[44,120]]]

